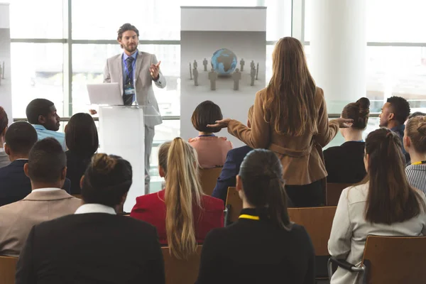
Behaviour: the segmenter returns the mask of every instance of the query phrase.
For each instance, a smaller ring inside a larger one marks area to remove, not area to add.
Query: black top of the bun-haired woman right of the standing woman
[[[365,142],[348,141],[324,150],[327,182],[356,183],[366,177]]]

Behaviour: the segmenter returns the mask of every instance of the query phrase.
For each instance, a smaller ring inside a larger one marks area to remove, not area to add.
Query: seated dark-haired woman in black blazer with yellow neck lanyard
[[[243,200],[241,215],[207,235],[196,283],[315,283],[314,248],[305,228],[290,222],[275,153],[247,154],[236,190]]]

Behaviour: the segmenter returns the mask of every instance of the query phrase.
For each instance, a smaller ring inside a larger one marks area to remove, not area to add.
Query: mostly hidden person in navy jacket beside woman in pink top
[[[247,119],[247,126],[250,128],[250,121],[253,118],[253,106],[249,109],[249,116]],[[228,187],[236,185],[236,175],[239,173],[239,168],[244,160],[244,157],[249,153],[252,148],[249,146],[242,146],[229,150],[226,155],[224,168],[217,179],[216,186],[214,187],[212,197],[220,198],[226,203],[226,196],[228,195]]]

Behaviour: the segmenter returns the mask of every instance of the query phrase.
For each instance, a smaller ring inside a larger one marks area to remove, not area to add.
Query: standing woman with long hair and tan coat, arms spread
[[[327,176],[319,148],[351,119],[328,120],[324,92],[307,68],[302,44],[281,38],[273,50],[273,75],[256,93],[251,129],[234,119],[217,121],[251,148],[267,148],[283,164],[285,190],[297,207],[324,202],[321,180]]]

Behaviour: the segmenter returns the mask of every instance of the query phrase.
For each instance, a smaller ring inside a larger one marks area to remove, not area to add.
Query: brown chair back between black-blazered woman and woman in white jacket
[[[290,221],[305,227],[312,239],[315,254],[328,256],[328,240],[336,207],[288,208]]]

